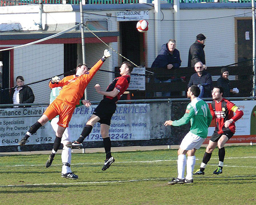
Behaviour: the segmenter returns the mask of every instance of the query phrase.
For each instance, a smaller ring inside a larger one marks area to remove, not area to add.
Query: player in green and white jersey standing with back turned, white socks
[[[168,183],[170,185],[193,183],[193,170],[196,164],[195,152],[207,137],[208,127],[212,119],[207,103],[198,98],[199,94],[199,87],[191,85],[187,90],[187,98],[190,98],[191,102],[187,105],[184,116],[179,120],[167,120],[164,123],[165,126],[181,126],[189,121],[191,124],[190,131],[184,136],[178,150],[178,177],[173,178]],[[184,177],[186,166],[187,175]]]

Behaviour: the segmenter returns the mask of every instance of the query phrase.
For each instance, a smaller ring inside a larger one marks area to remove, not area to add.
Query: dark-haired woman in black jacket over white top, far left
[[[35,96],[32,89],[24,85],[24,78],[18,76],[16,78],[17,85],[12,89],[10,103],[22,104],[22,103],[33,103]]]

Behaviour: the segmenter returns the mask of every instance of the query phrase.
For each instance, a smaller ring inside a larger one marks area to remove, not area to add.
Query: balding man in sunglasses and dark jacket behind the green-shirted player
[[[197,85],[200,88],[199,98],[210,98],[212,87],[211,75],[204,70],[201,61],[195,64],[195,71],[197,73],[191,75],[187,87]]]

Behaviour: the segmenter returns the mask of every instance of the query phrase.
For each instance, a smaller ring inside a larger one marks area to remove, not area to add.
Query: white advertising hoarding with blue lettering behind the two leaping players
[[[92,105],[89,108],[80,106],[74,110],[69,124],[72,141],[77,140],[96,107],[97,105]],[[40,118],[45,109],[46,107],[0,109],[0,146],[18,145],[18,142],[30,126]],[[109,134],[112,141],[149,140],[150,127],[149,104],[117,105],[111,120]],[[46,123],[28,139],[29,142],[26,145],[53,143],[54,139],[55,133],[51,124]],[[84,141],[101,140],[100,124],[96,123]]]

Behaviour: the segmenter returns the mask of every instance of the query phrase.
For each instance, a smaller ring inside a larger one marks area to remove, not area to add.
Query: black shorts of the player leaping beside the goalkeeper
[[[110,99],[103,99],[93,112],[100,118],[100,124],[110,125],[111,118],[116,111],[116,103]]]

